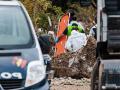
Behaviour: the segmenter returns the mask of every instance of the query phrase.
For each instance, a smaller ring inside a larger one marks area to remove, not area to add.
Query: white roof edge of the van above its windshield
[[[0,5],[20,6],[17,0],[0,0]]]

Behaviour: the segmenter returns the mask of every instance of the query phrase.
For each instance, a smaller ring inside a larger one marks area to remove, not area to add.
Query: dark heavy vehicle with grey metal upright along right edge
[[[120,90],[120,0],[96,2],[97,56],[91,90]]]

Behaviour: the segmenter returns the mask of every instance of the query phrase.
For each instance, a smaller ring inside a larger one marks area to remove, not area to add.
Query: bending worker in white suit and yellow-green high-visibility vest
[[[69,29],[66,33],[68,40],[65,44],[65,48],[70,52],[76,52],[87,44],[84,27],[81,23],[73,21],[70,23],[68,28]]]

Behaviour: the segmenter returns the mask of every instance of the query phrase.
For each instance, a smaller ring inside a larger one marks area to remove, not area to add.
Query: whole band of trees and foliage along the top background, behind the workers
[[[58,23],[59,17],[68,9],[74,9],[78,19],[84,22],[93,20],[95,9],[93,7],[80,7],[79,0],[21,0],[27,8],[36,29],[49,30],[48,16],[53,26]]]

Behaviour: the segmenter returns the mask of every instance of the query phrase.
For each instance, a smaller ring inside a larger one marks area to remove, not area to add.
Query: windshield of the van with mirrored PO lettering
[[[33,44],[31,28],[19,6],[0,6],[0,48],[26,48]]]

